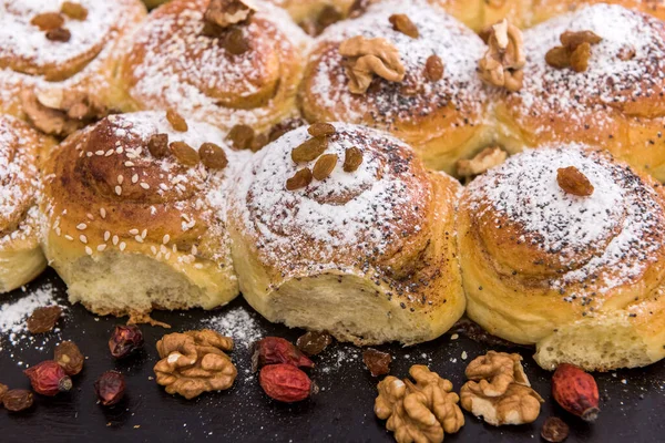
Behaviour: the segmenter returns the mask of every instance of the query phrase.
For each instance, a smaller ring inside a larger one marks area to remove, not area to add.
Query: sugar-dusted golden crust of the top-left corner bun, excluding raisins
[[[43,2],[0,2],[0,111],[27,119],[22,93],[90,95],[109,109],[124,109],[126,99],[114,74],[122,42],[145,17],[140,0],[81,0],[84,20],[64,17],[69,41],[53,41],[31,20]],[[53,3],[53,8],[59,4]]]

